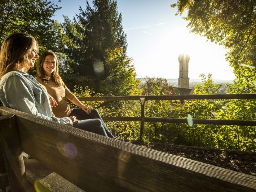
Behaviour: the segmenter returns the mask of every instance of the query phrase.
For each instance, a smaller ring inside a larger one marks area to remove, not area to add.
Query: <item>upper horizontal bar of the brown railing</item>
[[[256,99],[255,93],[250,94],[213,94],[213,95],[141,95],[141,96],[116,96],[116,97],[79,97],[80,101],[102,100],[176,100],[176,99]]]

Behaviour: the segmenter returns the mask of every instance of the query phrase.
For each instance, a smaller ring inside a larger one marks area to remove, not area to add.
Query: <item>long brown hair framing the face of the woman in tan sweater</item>
[[[48,77],[44,71],[44,60],[45,60],[45,57],[48,55],[52,55],[56,59],[56,68],[52,72],[51,77]],[[44,84],[48,84],[49,80],[51,79],[58,86],[62,85],[62,80],[61,80],[61,77],[59,76],[58,59],[57,59],[56,54],[53,51],[48,50],[48,51],[43,52],[43,54],[41,55],[41,57],[39,59],[38,65],[37,65],[37,75],[36,76],[41,78]]]

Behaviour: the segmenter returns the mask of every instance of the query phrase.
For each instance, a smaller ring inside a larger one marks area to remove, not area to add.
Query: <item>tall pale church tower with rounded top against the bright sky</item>
[[[182,53],[179,55],[178,60],[180,63],[178,87],[189,89],[189,55]]]

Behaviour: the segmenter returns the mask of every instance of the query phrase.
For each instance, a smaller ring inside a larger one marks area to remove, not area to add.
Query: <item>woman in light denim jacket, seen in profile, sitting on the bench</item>
[[[16,109],[64,125],[83,126],[75,116],[53,116],[46,90],[31,75],[39,56],[34,37],[26,33],[13,33],[5,38],[0,52],[0,99],[6,107]],[[91,127],[91,132],[107,137],[101,122]]]

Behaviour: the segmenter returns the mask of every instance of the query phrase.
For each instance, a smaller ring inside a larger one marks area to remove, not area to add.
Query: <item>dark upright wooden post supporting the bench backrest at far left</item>
[[[22,192],[34,189],[27,182],[18,127],[14,114],[0,116],[0,141],[12,191]]]

